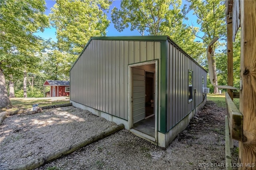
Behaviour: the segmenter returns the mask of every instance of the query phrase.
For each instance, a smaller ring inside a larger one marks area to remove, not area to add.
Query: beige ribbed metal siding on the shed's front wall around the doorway
[[[70,70],[70,99],[128,120],[128,64],[160,59],[160,42],[92,40]]]

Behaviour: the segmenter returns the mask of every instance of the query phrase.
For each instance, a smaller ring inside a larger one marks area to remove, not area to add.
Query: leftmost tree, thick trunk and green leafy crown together
[[[17,63],[11,62],[12,57],[23,61],[23,58],[20,58],[22,55],[19,55],[20,51],[36,49],[40,45],[40,39],[33,33],[43,31],[49,26],[48,17],[44,14],[45,9],[44,0],[0,0],[1,108],[10,105],[4,69],[11,64],[11,68],[15,70],[14,65]]]

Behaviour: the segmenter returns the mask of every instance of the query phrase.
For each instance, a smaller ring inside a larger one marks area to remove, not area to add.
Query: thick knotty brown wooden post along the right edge
[[[239,142],[240,169],[256,169],[256,1],[240,1],[241,77],[240,112],[243,141]],[[246,167],[247,165],[247,167]],[[254,166],[254,167],[249,167]]]

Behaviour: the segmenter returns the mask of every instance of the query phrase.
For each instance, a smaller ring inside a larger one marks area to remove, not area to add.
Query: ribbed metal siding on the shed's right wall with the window
[[[168,43],[167,49],[167,128],[170,130],[194,110],[195,101],[196,106],[203,101],[202,76],[204,76],[206,85],[206,71],[172,43]],[[193,71],[193,89],[196,89],[196,97],[193,91],[191,102],[188,101],[188,70]]]

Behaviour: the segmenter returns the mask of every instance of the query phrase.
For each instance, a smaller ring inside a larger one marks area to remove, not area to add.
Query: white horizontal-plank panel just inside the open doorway
[[[132,118],[133,123],[145,118],[145,71],[132,69]]]

